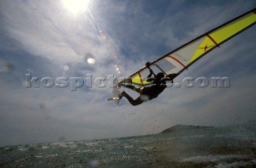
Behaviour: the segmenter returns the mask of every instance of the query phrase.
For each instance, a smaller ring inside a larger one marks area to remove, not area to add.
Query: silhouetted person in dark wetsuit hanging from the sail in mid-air
[[[131,84],[121,83],[121,86],[127,87],[129,89],[132,89],[140,93],[140,96],[134,100],[132,97],[130,97],[129,94],[123,91],[120,94],[119,99],[122,99],[122,97],[125,97],[131,103],[132,106],[137,106],[145,101],[157,98],[158,95],[162,93],[167,87],[166,81],[172,82],[171,78],[164,77],[164,73],[158,73],[157,75],[155,75],[153,73],[153,70],[149,68],[148,63],[149,62],[146,63],[146,67],[148,67],[150,74],[147,77],[147,82],[153,82],[153,84],[151,84],[150,86],[136,87]],[[154,75],[154,77],[151,77],[152,75]]]

